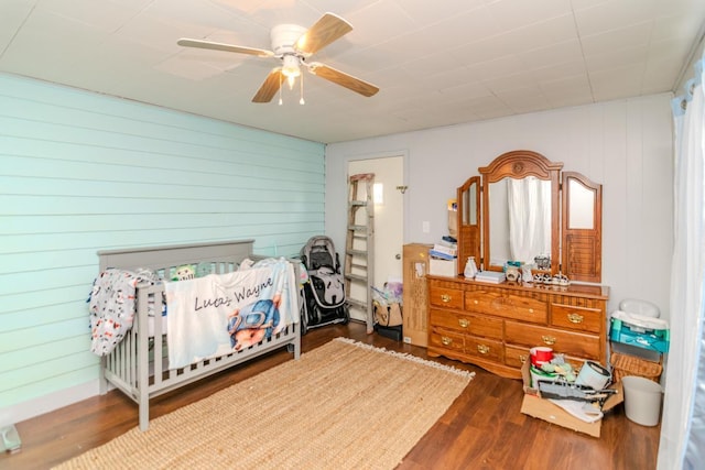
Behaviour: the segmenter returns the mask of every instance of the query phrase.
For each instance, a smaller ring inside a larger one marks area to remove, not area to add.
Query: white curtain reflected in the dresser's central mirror
[[[551,182],[509,178],[507,199],[512,261],[533,263],[538,254],[551,255]]]

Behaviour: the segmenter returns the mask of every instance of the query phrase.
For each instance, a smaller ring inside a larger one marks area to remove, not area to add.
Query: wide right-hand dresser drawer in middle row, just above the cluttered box
[[[536,325],[507,321],[505,324],[505,341],[529,348],[547,346],[553,348],[555,352],[579,358],[599,360],[600,357],[599,336],[562,331]]]

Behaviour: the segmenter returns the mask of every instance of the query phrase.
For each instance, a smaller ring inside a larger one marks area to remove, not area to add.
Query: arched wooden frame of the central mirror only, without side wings
[[[551,182],[551,274],[558,271],[558,227],[560,227],[560,175],[563,163],[553,163],[540,153],[529,150],[517,150],[499,155],[488,166],[478,168],[482,175],[482,264],[486,270],[502,271],[503,266],[489,264],[490,260],[490,222],[489,222],[489,184],[503,178],[522,179],[535,176]]]

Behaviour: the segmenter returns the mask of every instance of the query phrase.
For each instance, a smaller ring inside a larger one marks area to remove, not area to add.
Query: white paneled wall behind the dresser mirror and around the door
[[[668,318],[673,226],[670,94],[523,114],[326,149],[326,233],[345,242],[347,161],[405,152],[404,242],[433,243],[447,230],[446,201],[469,176],[512,150],[539,152],[603,184],[603,284],[608,309],[638,297]],[[430,233],[422,223],[429,221]]]

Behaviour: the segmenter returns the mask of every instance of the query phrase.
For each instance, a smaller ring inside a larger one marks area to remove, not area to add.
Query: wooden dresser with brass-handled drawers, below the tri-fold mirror
[[[429,356],[479,365],[520,379],[535,346],[549,346],[579,367],[607,365],[606,304],[609,288],[427,276]]]

